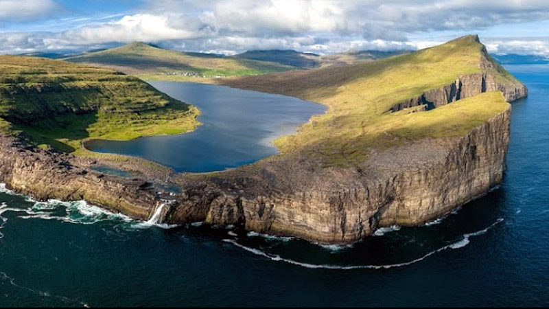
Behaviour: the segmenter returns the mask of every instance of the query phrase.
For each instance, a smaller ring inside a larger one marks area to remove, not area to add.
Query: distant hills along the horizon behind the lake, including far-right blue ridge
[[[320,67],[351,65],[362,61],[377,60],[407,51],[349,51],[318,55],[295,50],[252,50],[234,56],[177,52],[147,43],[131,43],[111,49],[95,49],[77,54],[32,53],[27,56],[64,59],[116,69],[147,80],[188,80],[191,78],[215,78],[250,76],[282,71],[315,69]],[[503,65],[544,64],[548,58],[535,55],[493,55]]]

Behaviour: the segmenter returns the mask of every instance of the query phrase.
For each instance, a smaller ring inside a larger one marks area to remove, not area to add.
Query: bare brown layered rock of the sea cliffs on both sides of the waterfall
[[[454,86],[452,86],[454,85]],[[506,100],[524,85],[501,84],[486,74],[458,78],[410,104],[441,106],[499,90]],[[418,104],[416,104],[418,102]],[[397,109],[401,108],[398,107]],[[372,152],[347,168],[325,168],[295,152],[229,172],[172,174],[180,192],[163,222],[242,225],[259,233],[346,244],[379,227],[419,225],[485,194],[505,170],[511,108],[463,137],[423,139]],[[89,169],[89,161],[38,150],[17,137],[0,137],[0,181],[39,199],[85,199],[146,220],[162,203],[154,179],[126,179]]]

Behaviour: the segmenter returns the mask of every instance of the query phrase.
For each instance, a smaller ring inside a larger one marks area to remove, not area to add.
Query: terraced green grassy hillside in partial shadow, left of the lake
[[[0,129],[67,152],[86,138],[192,130],[198,109],[138,78],[61,60],[0,56]]]

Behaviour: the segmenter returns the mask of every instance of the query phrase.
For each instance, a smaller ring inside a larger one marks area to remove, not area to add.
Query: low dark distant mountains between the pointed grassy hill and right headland
[[[313,69],[318,67],[329,67],[331,65],[351,65],[353,63],[377,60],[407,51],[397,50],[390,52],[380,51],[349,51],[336,54],[317,55],[311,53],[296,52],[294,50],[255,50],[233,56],[233,58],[246,58],[261,61],[277,62],[281,65],[290,65],[298,69]]]

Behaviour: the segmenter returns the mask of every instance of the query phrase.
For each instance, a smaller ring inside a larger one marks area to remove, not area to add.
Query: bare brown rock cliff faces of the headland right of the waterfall
[[[480,74],[460,78],[458,99],[498,87],[482,87],[491,84],[487,79]],[[447,90],[420,98],[435,106],[458,100]],[[507,100],[526,95],[522,85],[502,90]],[[379,227],[419,225],[502,181],[510,113],[511,107],[463,137],[424,139],[375,152],[352,168],[317,168],[290,157],[260,161],[253,170],[187,179],[166,220],[242,224],[260,233],[342,244]]]

